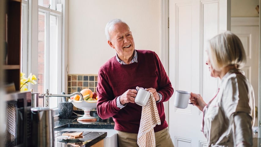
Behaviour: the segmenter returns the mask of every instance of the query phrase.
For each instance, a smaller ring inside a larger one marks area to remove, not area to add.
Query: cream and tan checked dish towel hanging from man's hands
[[[155,98],[152,92],[150,92],[150,97],[147,104],[142,107],[142,117],[137,140],[139,147],[156,146],[153,129],[156,125],[160,125],[160,116]]]

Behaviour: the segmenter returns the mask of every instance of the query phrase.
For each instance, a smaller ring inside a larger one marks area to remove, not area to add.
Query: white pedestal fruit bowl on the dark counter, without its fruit
[[[69,102],[79,109],[83,109],[84,115],[79,117],[77,120],[79,121],[96,121],[95,117],[90,116],[90,110],[96,108],[97,100],[71,100]]]

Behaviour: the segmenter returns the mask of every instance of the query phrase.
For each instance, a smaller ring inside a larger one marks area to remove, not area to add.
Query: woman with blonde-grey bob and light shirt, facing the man
[[[251,83],[240,70],[246,62],[244,47],[227,31],[208,41],[207,54],[211,77],[221,79],[219,88],[208,104],[192,92],[190,101],[204,113],[202,131],[208,144],[251,147],[255,98]]]

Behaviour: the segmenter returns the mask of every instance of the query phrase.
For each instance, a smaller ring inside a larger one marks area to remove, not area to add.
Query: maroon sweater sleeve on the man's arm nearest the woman
[[[174,89],[171,85],[171,82],[169,80],[169,77],[164,69],[164,66],[162,65],[160,58],[156,53],[154,53],[155,56],[155,62],[158,69],[158,89],[157,92],[162,95],[162,100],[160,102],[166,102],[170,99],[172,96]]]

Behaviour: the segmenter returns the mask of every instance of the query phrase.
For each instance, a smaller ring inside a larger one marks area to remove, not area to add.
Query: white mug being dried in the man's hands
[[[135,97],[135,103],[140,106],[145,106],[149,100],[149,97],[150,97],[150,92],[140,88]]]

